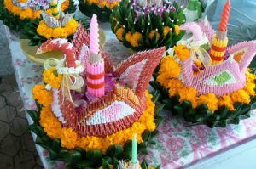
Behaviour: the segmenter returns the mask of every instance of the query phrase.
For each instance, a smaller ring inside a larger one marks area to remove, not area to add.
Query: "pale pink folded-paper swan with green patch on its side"
[[[181,30],[193,33],[194,44],[202,44],[207,37],[212,42],[213,29],[207,20],[201,23],[189,23],[180,27]],[[187,43],[188,44],[188,43]],[[189,48],[189,45],[184,44]],[[191,48],[190,48],[191,49]],[[193,53],[191,53],[193,54]],[[256,42],[240,42],[227,48],[227,59],[218,65],[206,66],[199,74],[194,75],[192,70],[193,55],[188,59],[181,60],[182,70],[180,80],[188,87],[194,87],[198,95],[215,93],[222,96],[233,93],[245,86],[246,70],[256,54]]]

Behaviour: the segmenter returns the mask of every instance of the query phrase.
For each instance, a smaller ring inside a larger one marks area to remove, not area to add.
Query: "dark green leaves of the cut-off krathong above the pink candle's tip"
[[[92,17],[92,14],[96,14],[98,20],[102,22],[108,22],[109,16],[112,13],[111,9],[108,7],[101,8],[95,3],[89,4],[86,0],[79,0],[80,11],[88,17]]]

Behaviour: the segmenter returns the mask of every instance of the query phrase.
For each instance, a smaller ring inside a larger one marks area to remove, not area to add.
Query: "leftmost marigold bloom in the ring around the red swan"
[[[45,85],[36,85],[32,89],[33,98],[38,100],[39,104],[49,107],[52,102],[52,93],[45,89]]]

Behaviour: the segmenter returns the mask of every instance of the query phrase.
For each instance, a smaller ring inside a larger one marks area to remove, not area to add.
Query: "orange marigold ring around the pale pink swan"
[[[177,46],[174,50],[180,59],[189,57],[188,49],[183,48],[183,46]],[[180,69],[180,65],[175,61],[175,58],[173,56],[167,56],[161,60],[157,82],[160,82],[161,86],[169,90],[170,97],[178,95],[180,97],[180,103],[188,100],[191,102],[193,108],[201,104],[207,104],[208,109],[212,110],[212,112],[218,110],[221,106],[226,106],[229,110],[234,111],[234,104],[236,102],[250,104],[250,97],[255,96],[254,80],[256,76],[250,73],[250,70],[247,70],[246,73],[247,81],[245,87],[234,93],[226,94],[218,98],[214,93],[197,96],[195,88],[186,87],[183,82],[177,79]]]

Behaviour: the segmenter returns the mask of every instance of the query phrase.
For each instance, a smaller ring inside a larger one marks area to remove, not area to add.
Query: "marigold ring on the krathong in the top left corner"
[[[35,20],[41,17],[40,11],[36,10],[33,11],[31,8],[22,9],[18,6],[15,6],[12,0],[4,0],[3,5],[5,8],[9,10],[9,12],[13,13],[15,16],[20,16],[21,20],[30,19]],[[61,10],[64,11],[69,7],[69,0],[66,0],[61,5]],[[48,13],[50,13],[50,10],[47,10]]]

